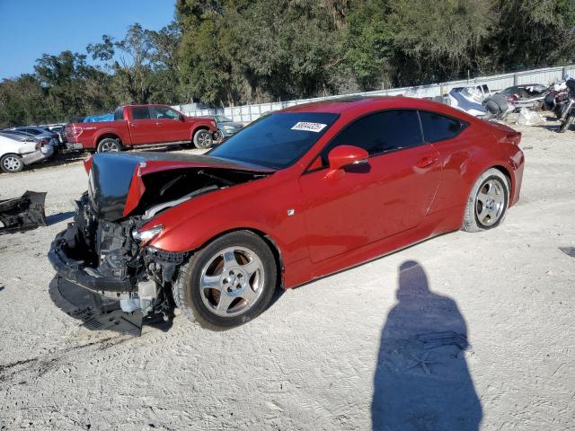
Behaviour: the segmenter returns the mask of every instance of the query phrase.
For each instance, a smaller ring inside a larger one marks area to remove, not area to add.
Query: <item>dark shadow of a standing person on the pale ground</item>
[[[482,406],[465,358],[457,304],[429,290],[418,262],[399,268],[398,303],[387,316],[374,376],[374,430],[478,430]]]

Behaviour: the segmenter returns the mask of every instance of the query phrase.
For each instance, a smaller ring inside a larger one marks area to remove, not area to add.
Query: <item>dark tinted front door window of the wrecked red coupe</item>
[[[329,152],[339,145],[360,146],[369,155],[374,155],[422,143],[416,110],[385,110],[358,119],[342,130],[323,149],[322,164],[328,165]]]

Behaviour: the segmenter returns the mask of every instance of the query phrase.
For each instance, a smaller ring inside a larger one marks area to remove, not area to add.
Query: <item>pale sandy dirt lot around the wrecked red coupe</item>
[[[0,428],[575,429],[575,258],[560,250],[575,246],[575,132],[518,129],[522,198],[500,228],[288,291],[223,332],[183,316],[137,339],[78,327],[49,299],[46,254],[82,164],[0,175],[4,198],[48,191],[49,215],[0,236]]]

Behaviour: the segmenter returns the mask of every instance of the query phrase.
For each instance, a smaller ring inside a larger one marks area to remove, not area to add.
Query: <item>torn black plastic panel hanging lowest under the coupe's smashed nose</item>
[[[94,294],[64,278],[52,279],[49,295],[60,310],[81,321],[88,330],[113,330],[135,337],[142,333],[141,311],[123,312],[119,301]]]

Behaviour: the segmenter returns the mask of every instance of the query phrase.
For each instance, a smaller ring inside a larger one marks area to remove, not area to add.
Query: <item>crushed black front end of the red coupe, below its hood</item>
[[[187,253],[159,251],[137,239],[141,217],[97,218],[88,194],[76,201],[74,223],[49,250],[57,271],[50,295],[58,307],[93,330],[139,335],[143,320],[173,317],[170,286]]]

